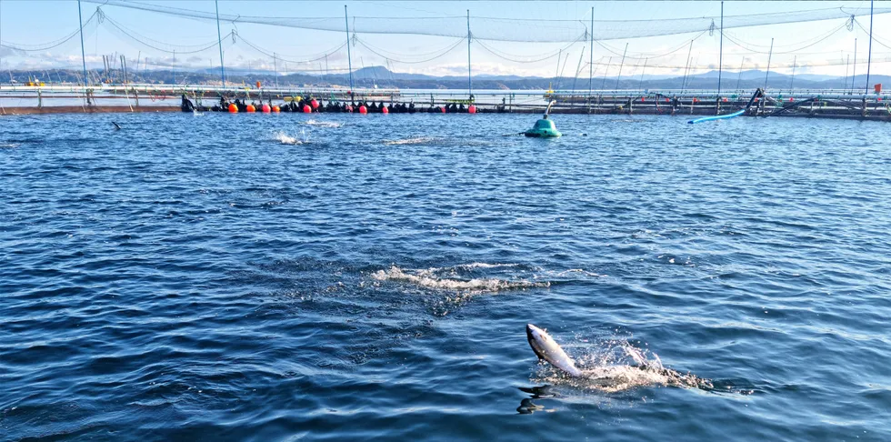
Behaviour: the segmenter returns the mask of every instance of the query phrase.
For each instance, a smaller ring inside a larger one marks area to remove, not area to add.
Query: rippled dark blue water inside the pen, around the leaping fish
[[[889,126],[536,117],[0,117],[0,440],[891,440]]]

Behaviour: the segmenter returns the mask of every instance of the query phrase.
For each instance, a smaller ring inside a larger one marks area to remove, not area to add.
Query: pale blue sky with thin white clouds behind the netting
[[[125,0],[135,1],[135,0]],[[162,5],[214,13],[212,0],[138,0],[144,5]],[[467,75],[466,19],[472,16],[472,33],[490,38],[516,38],[520,35],[550,35],[543,32],[539,20],[576,20],[583,29],[594,7],[598,23],[606,20],[637,20],[624,29],[646,31],[666,22],[648,22],[670,18],[718,16],[719,1],[686,2],[588,2],[588,1],[236,1],[219,2],[221,15],[295,17],[298,24],[339,23],[345,26],[344,5],[357,27],[378,26],[392,34],[370,34],[357,30],[350,45],[354,69],[384,65],[395,72],[428,75]],[[173,67],[177,70],[219,69],[214,20],[195,19],[137,10],[120,5],[81,5],[83,19],[101,7],[104,18],[94,17],[85,25],[85,58],[90,69],[101,68],[102,55],[114,55],[119,63],[125,55],[133,70]],[[789,13],[793,11],[844,7],[846,11],[868,11],[868,1],[856,2],[759,2],[727,1],[725,16]],[[891,2],[876,2],[876,8],[891,7]],[[75,0],[0,0],[0,71],[28,69],[40,71],[52,67],[79,68],[81,47],[78,30],[78,5]],[[791,14],[790,14],[791,15]],[[329,20],[316,20],[317,18]],[[379,18],[374,17],[389,17]],[[454,17],[419,19],[419,17]],[[521,21],[483,20],[480,17],[523,19]],[[717,22],[717,20],[716,20]],[[866,30],[869,16],[857,22]],[[601,27],[596,23],[596,30]],[[473,30],[474,24],[478,28]],[[716,24],[717,25],[717,24]],[[891,14],[876,15],[872,48],[874,75],[891,75]],[[846,19],[760,25],[726,29],[723,66],[736,72],[742,68],[766,69],[798,75],[847,75],[856,58],[857,74],[865,74],[868,33],[854,26],[846,28]],[[406,35],[409,28],[430,29],[433,33],[459,36]],[[683,26],[679,30],[685,29]],[[345,72],[347,69],[346,34],[336,31],[299,29],[249,23],[220,24],[224,35],[226,68],[266,70],[280,75],[295,71]],[[559,30],[555,30],[558,33]],[[581,31],[584,32],[584,31]],[[233,38],[233,33],[236,35]],[[601,33],[608,34],[608,33]],[[74,35],[67,42],[49,47]],[[555,34],[556,35],[556,34]],[[573,34],[575,35],[575,34]],[[598,35],[600,38],[602,35]],[[537,75],[595,78],[616,75],[682,75],[717,69],[720,32],[686,33],[640,38],[598,40],[593,65],[589,42],[542,43],[474,39],[470,45],[474,75]],[[770,45],[773,41],[773,53]],[[856,39],[856,53],[855,53]],[[692,45],[691,45],[692,41]],[[627,49],[626,49],[627,48]],[[25,49],[25,50],[23,50]],[[583,53],[584,51],[584,53]],[[176,54],[175,54],[176,53]],[[624,62],[623,54],[625,55]],[[769,60],[768,60],[769,59]],[[593,71],[593,72],[592,72]],[[577,73],[577,74],[576,74]]]

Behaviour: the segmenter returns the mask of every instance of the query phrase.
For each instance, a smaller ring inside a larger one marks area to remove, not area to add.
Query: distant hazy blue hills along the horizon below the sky
[[[111,82],[120,83],[123,79],[120,69],[107,73],[91,71],[92,81],[98,82],[100,78]],[[10,79],[18,83],[25,83],[29,78],[37,77],[46,83],[78,83],[80,71],[54,69],[45,71],[12,71]],[[3,78],[5,80],[5,78]],[[622,76],[621,78],[595,77],[592,80],[594,89],[716,89],[717,71],[709,71],[697,75],[668,76],[668,75],[640,75]],[[724,72],[721,75],[721,88],[723,90],[755,89],[766,85],[768,89],[788,89],[795,86],[796,89],[844,89],[852,87],[850,77],[837,77],[832,75],[796,75],[793,83],[791,75],[765,71],[747,70],[742,72]],[[131,72],[128,80],[135,83],[150,84],[220,84],[219,71],[204,69],[198,71],[170,71],[149,70]],[[226,82],[231,84],[254,85],[257,81],[264,85],[280,85],[293,87],[312,86],[343,86],[349,85],[349,76],[346,74],[311,75],[306,73],[293,73],[290,75],[275,75],[269,71],[247,71],[245,69],[228,69]],[[871,75],[871,84],[882,83],[891,87],[891,76]],[[355,87],[379,87],[400,89],[466,89],[467,77],[459,75],[424,75],[391,72],[384,66],[370,66],[357,69],[353,72]],[[571,90],[587,90],[587,77],[540,77],[520,75],[474,75],[475,89],[500,89],[500,90],[545,90],[548,88]],[[856,91],[866,90],[866,75],[856,75],[853,78]],[[872,90],[872,86],[870,86]]]

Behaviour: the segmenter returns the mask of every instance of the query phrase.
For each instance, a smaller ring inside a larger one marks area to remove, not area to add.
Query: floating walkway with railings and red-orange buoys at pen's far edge
[[[270,112],[366,113],[523,113],[540,114],[551,101],[551,114],[666,116],[804,116],[891,121],[891,96],[852,94],[846,90],[765,91],[475,91],[343,88],[245,88],[215,85],[83,85],[0,87],[0,115],[101,112],[173,112],[184,110],[183,95],[198,110],[239,113],[254,105]],[[221,101],[222,98],[222,101]],[[237,100],[237,102],[236,102]],[[312,106],[315,100],[318,106]],[[383,111],[382,109],[386,109]],[[188,109],[185,109],[188,110]],[[740,113],[742,111],[742,113]]]

